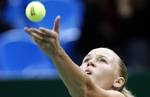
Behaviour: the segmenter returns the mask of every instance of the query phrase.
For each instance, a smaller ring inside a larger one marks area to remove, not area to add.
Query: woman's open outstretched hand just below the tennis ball
[[[56,54],[60,49],[59,42],[59,21],[60,16],[57,16],[54,21],[53,29],[44,27],[27,28],[24,30],[32,37],[32,39],[39,45],[39,47],[48,55]]]

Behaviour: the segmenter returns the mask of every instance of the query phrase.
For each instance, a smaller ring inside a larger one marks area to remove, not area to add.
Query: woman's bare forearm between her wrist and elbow
[[[49,55],[68,90],[80,91],[86,84],[87,76],[80,70],[65,51],[60,47],[57,52]],[[81,87],[81,88],[80,88]]]

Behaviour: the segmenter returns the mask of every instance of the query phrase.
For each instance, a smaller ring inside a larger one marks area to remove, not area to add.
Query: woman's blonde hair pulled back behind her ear
[[[120,66],[120,76],[125,79],[125,84],[118,89],[122,94],[124,94],[125,97],[135,97],[127,88],[125,87],[127,80],[128,80],[128,73],[127,73],[127,68],[124,64],[124,62],[120,59],[119,61],[119,66]]]

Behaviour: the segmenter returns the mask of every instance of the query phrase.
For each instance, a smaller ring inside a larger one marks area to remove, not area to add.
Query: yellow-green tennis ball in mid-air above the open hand
[[[32,22],[40,22],[45,14],[45,7],[39,1],[32,1],[26,7],[26,16]]]

